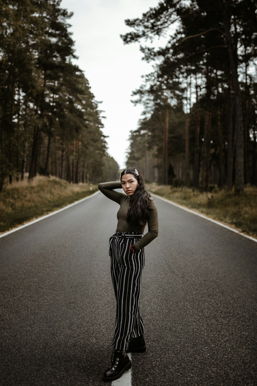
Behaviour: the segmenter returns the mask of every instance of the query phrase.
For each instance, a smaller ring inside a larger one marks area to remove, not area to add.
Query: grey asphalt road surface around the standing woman
[[[133,386],[257,385],[257,243],[155,199]],[[0,385],[103,385],[114,331],[101,193],[0,239]]]

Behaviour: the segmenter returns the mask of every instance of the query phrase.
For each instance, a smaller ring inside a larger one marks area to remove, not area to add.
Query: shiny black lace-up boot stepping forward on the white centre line
[[[111,366],[108,367],[102,377],[103,381],[114,381],[115,379],[118,379],[122,376],[124,371],[129,370],[132,366],[126,351],[114,350],[112,357]]]

